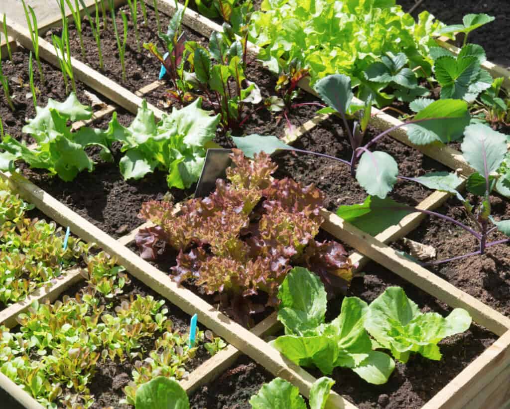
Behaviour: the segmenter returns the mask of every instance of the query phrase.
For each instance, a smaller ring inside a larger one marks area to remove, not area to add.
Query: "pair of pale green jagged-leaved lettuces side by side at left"
[[[23,160],[32,168],[47,169],[70,182],[82,170],[94,169],[94,162],[85,151],[87,146],[99,146],[101,158],[112,161],[112,144],[119,141],[124,152],[119,167],[125,179],[140,179],[158,168],[168,172],[170,188],[189,188],[200,176],[207,144],[214,138],[220,120],[200,106],[198,98],[156,122],[143,101],[129,127],[122,126],[114,112],[106,131],[81,127],[71,132],[70,122],[91,118],[90,107],[80,104],[73,93],[63,103],[50,98],[45,108],[37,107],[36,117],[23,127],[37,146],[31,148],[5,136],[0,143],[0,148],[5,149],[0,152],[0,169],[13,170],[15,161]]]

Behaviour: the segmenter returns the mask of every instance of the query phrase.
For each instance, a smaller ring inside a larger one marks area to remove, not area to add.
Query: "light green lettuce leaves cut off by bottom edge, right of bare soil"
[[[317,379],[310,388],[310,409],[324,409],[333,379],[323,376]],[[282,378],[274,378],[264,384],[257,395],[250,399],[252,409],[307,409],[307,404],[299,395],[299,389]]]

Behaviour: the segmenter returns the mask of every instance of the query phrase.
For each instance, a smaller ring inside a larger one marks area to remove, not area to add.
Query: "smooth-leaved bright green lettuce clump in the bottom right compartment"
[[[285,335],[271,342],[292,362],[330,374],[335,367],[352,369],[371,384],[384,384],[395,359],[407,362],[412,352],[440,360],[438,343],[466,331],[471,317],[462,309],[443,318],[421,313],[400,287],[390,287],[370,305],[344,297],[340,315],[325,322],[327,297],[316,275],[295,267],[278,291],[278,320]],[[377,350],[376,350],[377,349]]]

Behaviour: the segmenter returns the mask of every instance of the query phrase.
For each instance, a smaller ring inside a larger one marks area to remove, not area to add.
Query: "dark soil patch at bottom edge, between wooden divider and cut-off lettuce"
[[[249,400],[273,376],[243,355],[216,380],[190,396],[191,409],[251,409]],[[276,409],[276,408],[275,408]],[[283,409],[283,408],[282,408]]]

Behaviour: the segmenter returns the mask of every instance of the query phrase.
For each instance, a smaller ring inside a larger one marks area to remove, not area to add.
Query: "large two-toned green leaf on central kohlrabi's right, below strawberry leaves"
[[[434,141],[448,143],[460,138],[469,125],[470,115],[465,101],[440,99],[416,114],[414,120],[427,119],[404,126],[409,140],[417,145]]]

